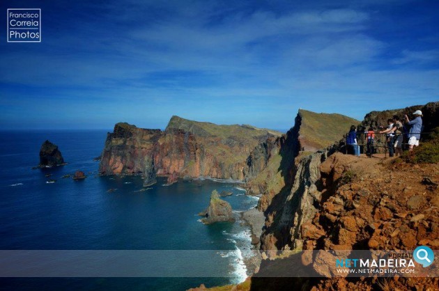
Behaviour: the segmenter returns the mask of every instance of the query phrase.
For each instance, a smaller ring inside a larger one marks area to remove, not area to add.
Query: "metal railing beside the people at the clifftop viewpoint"
[[[422,136],[426,136],[431,134],[432,132],[420,132],[420,133],[412,133],[412,134],[419,134],[420,139],[419,142],[422,141]],[[389,134],[384,133],[380,134],[378,132],[373,132],[373,140],[371,143],[368,142],[368,136],[369,134],[372,134],[372,132],[357,132],[357,145],[360,147],[360,154],[367,154],[369,157],[373,157],[373,154],[379,154],[384,152],[384,157],[387,157],[387,153],[389,152],[389,145],[388,145],[388,138]],[[394,147],[394,143],[398,139],[399,136],[402,135],[402,142],[401,142],[401,148],[403,150],[408,150],[409,144],[408,144],[408,135],[406,133],[394,133],[392,146]],[[345,153],[348,154],[348,148],[353,148],[352,144],[348,144],[347,142],[348,134],[345,134],[344,141],[345,141]],[[377,149],[383,149],[383,151],[378,152]]]

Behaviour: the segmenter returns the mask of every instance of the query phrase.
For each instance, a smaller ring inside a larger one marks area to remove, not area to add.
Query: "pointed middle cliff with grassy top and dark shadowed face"
[[[359,121],[332,113],[314,113],[300,109],[295,117],[294,126],[277,139],[268,139],[256,147],[248,161],[249,167],[247,189],[250,194],[263,194],[259,200],[259,210],[267,211],[277,200],[291,193],[296,159],[306,156],[315,149],[327,148],[346,133],[351,125]],[[276,200],[273,199],[277,196]],[[269,211],[271,212],[271,210]],[[270,216],[270,214],[268,214]]]

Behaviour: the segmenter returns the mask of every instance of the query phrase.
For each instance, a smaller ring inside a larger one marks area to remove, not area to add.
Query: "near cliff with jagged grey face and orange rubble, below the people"
[[[367,114],[362,125],[377,127],[394,114],[420,109],[424,113],[424,131],[430,132],[439,126],[438,105],[439,102],[434,102],[406,109],[373,111]],[[299,118],[300,126],[296,119],[295,127],[286,136],[254,152],[254,160],[265,164],[265,168],[248,183],[252,191],[253,183],[263,175],[261,180],[266,182],[262,189],[272,189],[264,192],[259,207],[266,217],[261,250],[263,257],[267,255],[274,260],[263,260],[258,274],[245,283],[229,286],[230,290],[436,290],[438,278],[305,278],[309,272],[321,276],[333,272],[329,263],[316,264],[329,262],[325,261],[328,252],[319,251],[313,256],[309,252],[295,253],[292,249],[349,252],[355,249],[413,250],[426,245],[437,250],[439,164],[428,162],[429,159],[419,165],[403,159],[357,158],[336,152],[337,146],[311,154],[298,152],[298,143],[302,141],[300,129],[305,122],[305,118],[300,115]],[[428,143],[437,145],[439,135]],[[291,151],[286,150],[288,146]],[[415,150],[415,155],[439,155],[437,146],[429,146],[424,142]],[[264,150],[270,152],[268,159],[262,158],[266,156],[261,155]],[[285,168],[288,175],[279,175],[285,173]],[[273,182],[275,178],[286,176],[291,178]],[[275,278],[276,274],[285,272],[289,272],[291,278]],[[300,272],[305,276],[299,278]]]

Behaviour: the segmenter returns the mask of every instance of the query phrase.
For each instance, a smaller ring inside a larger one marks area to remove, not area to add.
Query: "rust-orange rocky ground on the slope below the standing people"
[[[439,249],[439,165],[335,153],[320,166],[318,212],[303,223],[304,250]],[[295,257],[295,258],[294,258]],[[276,268],[318,269],[316,258],[263,260],[259,275]],[[430,270],[433,271],[433,270]],[[439,290],[439,278],[251,278],[213,290]],[[203,290],[202,286],[201,289]]]

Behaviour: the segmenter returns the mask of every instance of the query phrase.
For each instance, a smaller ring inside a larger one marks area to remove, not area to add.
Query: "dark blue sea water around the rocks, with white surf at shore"
[[[0,134],[0,249],[232,251],[206,258],[224,274],[220,278],[1,278],[1,289],[186,290],[245,278],[242,258],[235,254],[251,245],[249,227],[238,212],[254,207],[257,200],[242,195],[238,185],[197,180],[163,186],[166,180],[159,178],[153,187],[139,191],[140,177],[97,175],[99,162],[93,157],[104,146],[103,130]],[[46,139],[59,146],[66,166],[32,169]],[[61,178],[77,170],[88,177]],[[49,179],[56,182],[47,184]],[[197,213],[206,209],[214,189],[233,191],[224,200],[238,221],[210,226],[199,221]]]

